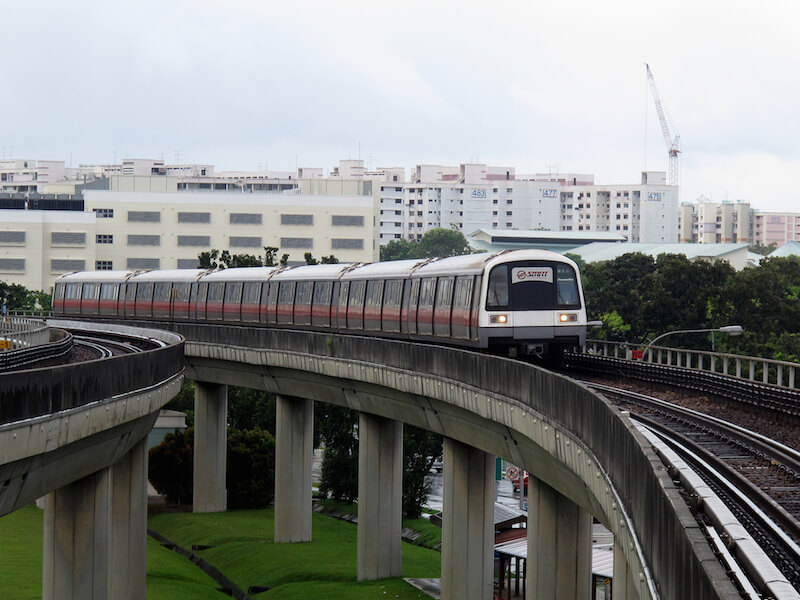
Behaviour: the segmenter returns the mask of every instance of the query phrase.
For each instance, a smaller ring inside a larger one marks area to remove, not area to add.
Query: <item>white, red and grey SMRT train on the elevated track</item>
[[[586,339],[577,265],[546,250],[60,276],[53,314],[282,327],[557,357]]]

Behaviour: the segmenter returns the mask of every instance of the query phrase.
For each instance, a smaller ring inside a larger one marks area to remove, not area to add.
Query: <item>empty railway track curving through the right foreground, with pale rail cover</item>
[[[769,571],[765,567],[769,561],[795,590],[800,590],[800,453],[797,450],[652,396],[585,383],[629,411],[690,465],[722,500],[768,558],[758,561],[739,557],[739,562],[744,562],[743,570],[759,582],[758,587],[766,597],[782,597],[764,589],[768,588],[765,580],[771,577],[764,574]],[[698,520],[707,521],[702,499],[696,493],[686,495]],[[731,537],[728,532],[721,539],[731,547],[741,543]]]

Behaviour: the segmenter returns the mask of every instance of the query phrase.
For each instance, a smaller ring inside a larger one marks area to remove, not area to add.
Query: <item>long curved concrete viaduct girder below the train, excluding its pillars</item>
[[[153,325],[186,337],[193,379],[348,406],[522,466],[614,533],[642,600],[737,597],[649,442],[606,399],[566,377],[431,344]]]

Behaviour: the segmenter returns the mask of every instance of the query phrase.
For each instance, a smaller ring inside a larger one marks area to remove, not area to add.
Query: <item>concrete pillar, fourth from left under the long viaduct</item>
[[[444,440],[442,600],[489,600],[494,568],[494,457]]]

